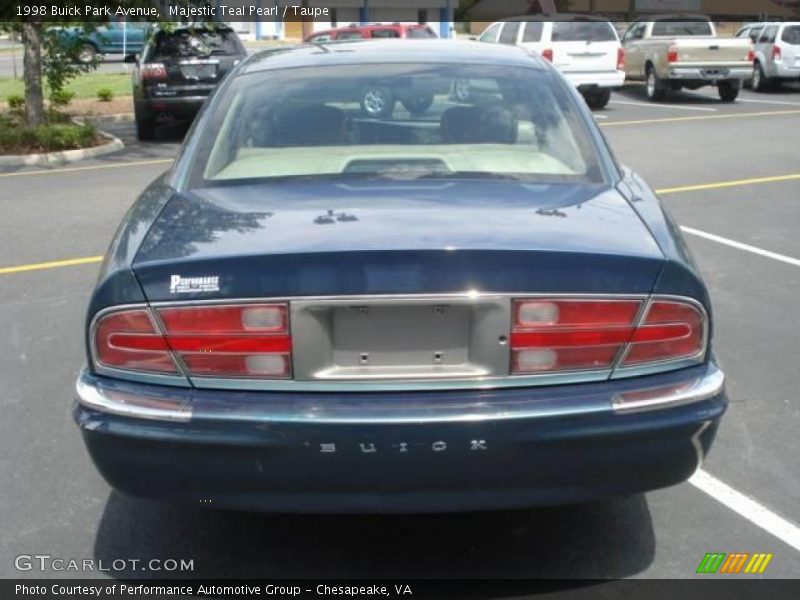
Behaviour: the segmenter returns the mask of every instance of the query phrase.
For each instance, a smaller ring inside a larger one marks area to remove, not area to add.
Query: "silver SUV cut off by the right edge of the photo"
[[[800,80],[800,22],[766,24],[756,40],[754,54],[754,90]]]

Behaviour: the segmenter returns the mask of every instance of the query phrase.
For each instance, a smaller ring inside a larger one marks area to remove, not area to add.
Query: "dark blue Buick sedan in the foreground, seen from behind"
[[[494,96],[411,121],[340,100],[456,79]],[[703,460],[712,332],[679,228],[550,63],[302,45],[236,67],[124,218],[74,417],[112,486],[194,506],[591,501]]]

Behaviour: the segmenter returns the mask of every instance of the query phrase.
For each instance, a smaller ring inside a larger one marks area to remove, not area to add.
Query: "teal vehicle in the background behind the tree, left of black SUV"
[[[91,63],[98,55],[142,52],[151,30],[150,23],[108,21],[90,32],[81,27],[65,27],[60,33],[65,41],[78,46],[79,62]]]

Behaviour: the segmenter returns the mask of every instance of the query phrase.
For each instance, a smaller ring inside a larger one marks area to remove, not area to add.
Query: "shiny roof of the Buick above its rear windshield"
[[[546,68],[542,59],[517,46],[440,39],[347,40],[281,46],[252,54],[240,73],[298,67],[430,63]]]

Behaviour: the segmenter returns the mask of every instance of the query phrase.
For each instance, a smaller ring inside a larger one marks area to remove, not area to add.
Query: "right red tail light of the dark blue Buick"
[[[668,362],[705,350],[705,315],[677,300],[519,299],[513,305],[511,374],[611,369]]]

